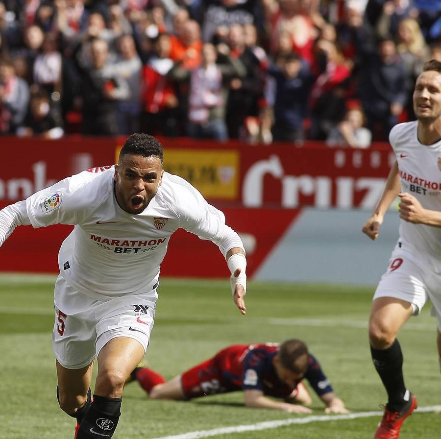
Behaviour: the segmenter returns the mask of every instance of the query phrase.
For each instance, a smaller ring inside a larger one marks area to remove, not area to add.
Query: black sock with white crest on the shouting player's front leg
[[[76,439],[111,438],[121,415],[122,398],[94,395],[93,402],[81,422]]]

